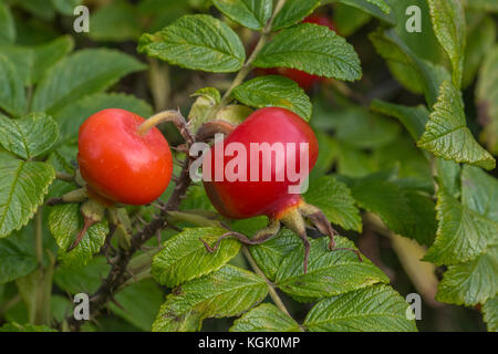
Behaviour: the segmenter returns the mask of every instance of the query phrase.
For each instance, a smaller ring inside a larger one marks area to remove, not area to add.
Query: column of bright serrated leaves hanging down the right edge
[[[460,1],[427,3],[434,34],[449,59],[450,73],[443,62],[428,62],[414,53],[395,30],[381,29],[371,35],[377,52],[407,90],[425,94],[430,111],[381,101],[374,102],[372,110],[398,118],[417,146],[434,156],[437,231],[434,242],[427,243],[430,247],[424,260],[448,266],[436,299],[459,305],[483,305],[488,329],[495,331],[498,223],[494,210],[498,180],[481,168],[494,169],[496,162],[467,127],[460,92],[474,81],[484,60],[476,87],[477,104],[484,105],[481,114],[497,118],[492,101],[485,101],[488,95],[492,97],[494,90],[487,90],[486,98],[481,91],[491,85],[489,82],[497,73],[491,73],[496,61],[495,23],[484,12],[467,11],[466,17]],[[483,20],[487,23],[484,27]],[[408,81],[407,71],[417,73],[416,81]],[[491,143],[488,146],[496,152],[489,129],[492,124],[485,132]]]

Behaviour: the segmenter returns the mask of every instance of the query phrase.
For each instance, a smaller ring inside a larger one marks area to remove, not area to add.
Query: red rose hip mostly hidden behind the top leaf
[[[320,25],[325,25],[332,31],[335,31],[334,23],[324,14],[310,14],[304,20],[303,23],[315,23]],[[309,91],[314,84],[322,80],[321,76],[312,75],[297,69],[289,67],[270,67],[270,69],[257,69],[255,71],[257,75],[281,75],[289,77],[298,83],[304,91]]]

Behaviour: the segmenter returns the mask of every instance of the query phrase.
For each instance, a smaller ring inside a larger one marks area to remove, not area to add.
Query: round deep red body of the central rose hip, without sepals
[[[230,181],[230,176],[226,174],[227,165],[232,158],[240,158],[239,155],[225,157],[222,166],[215,166],[216,146],[211,148],[211,171],[209,175],[204,171],[204,186],[212,205],[228,218],[243,219],[259,215],[278,218],[286,209],[299,204],[301,196],[289,192],[289,186],[295,186],[299,181],[287,174],[287,165],[293,164],[295,167],[293,170],[301,173],[301,143],[308,145],[308,152],[302,153],[307,154],[310,171],[317,162],[318,142],[308,123],[284,108],[268,107],[252,113],[221,143],[227,152],[231,148],[231,144],[243,146],[247,164],[243,166],[246,170],[242,176],[246,177],[246,181]],[[289,144],[294,144],[294,147]],[[259,153],[256,150],[257,146]],[[271,158],[264,158],[270,155]],[[219,171],[220,167],[224,169],[224,180],[216,181],[215,173],[216,169]],[[263,178],[264,174],[270,178]],[[283,175],[280,181],[277,179],[278,174]]]

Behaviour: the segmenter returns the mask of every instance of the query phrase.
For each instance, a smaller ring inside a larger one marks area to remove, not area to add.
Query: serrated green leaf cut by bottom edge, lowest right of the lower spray
[[[416,332],[409,305],[391,287],[375,285],[324,299],[303,325],[313,332]]]

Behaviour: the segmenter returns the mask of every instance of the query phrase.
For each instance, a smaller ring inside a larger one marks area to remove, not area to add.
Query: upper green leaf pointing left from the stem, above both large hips
[[[184,15],[155,34],[143,34],[138,52],[190,70],[238,71],[246,51],[224,22],[206,14]]]

